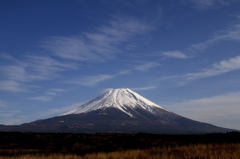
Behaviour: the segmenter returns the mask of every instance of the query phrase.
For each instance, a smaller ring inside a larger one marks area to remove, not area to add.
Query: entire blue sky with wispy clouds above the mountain
[[[1,0],[0,124],[108,88],[240,129],[240,1]]]

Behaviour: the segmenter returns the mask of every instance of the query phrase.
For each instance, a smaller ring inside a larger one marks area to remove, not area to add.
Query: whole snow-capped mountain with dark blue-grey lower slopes
[[[130,89],[109,89],[62,115],[17,126],[1,126],[0,130],[159,134],[234,131],[177,115]]]

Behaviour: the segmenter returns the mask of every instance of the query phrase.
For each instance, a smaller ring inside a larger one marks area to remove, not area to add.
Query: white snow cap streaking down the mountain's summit
[[[110,89],[92,101],[62,115],[80,114],[114,107],[133,117],[128,109],[142,108],[155,114],[154,108],[164,109],[130,89]],[[164,109],[165,110],[165,109]],[[61,116],[62,116],[61,115]]]

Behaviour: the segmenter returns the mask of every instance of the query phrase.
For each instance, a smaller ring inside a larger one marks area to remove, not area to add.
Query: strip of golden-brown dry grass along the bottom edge
[[[239,159],[240,144],[198,144],[146,150],[126,150],[110,153],[77,155],[14,155],[0,159]]]

